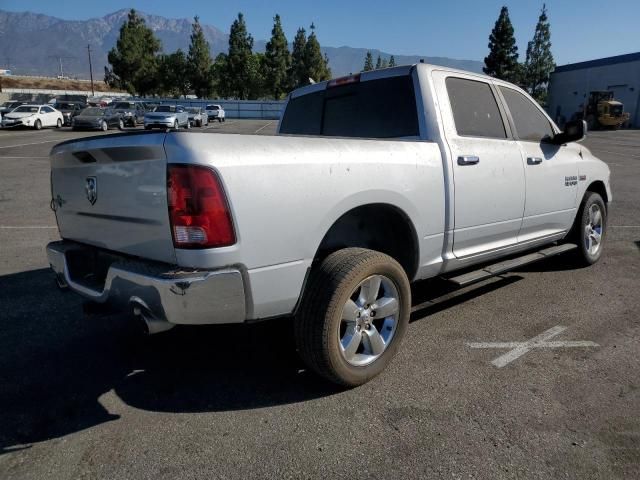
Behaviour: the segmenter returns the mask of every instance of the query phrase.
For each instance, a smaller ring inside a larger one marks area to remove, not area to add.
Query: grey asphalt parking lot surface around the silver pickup
[[[612,171],[598,264],[416,284],[400,353],[353,390],[286,320],[143,337],[54,287],[47,155],[98,134],[0,131],[0,478],[640,478],[640,131],[585,142]]]

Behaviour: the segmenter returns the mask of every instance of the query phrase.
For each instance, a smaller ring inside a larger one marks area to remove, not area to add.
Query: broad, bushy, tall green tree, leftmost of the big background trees
[[[106,81],[115,82],[129,93],[147,95],[159,87],[158,52],[160,40],[147,27],[134,9],[120,27],[116,46],[109,51],[108,60],[112,66]]]

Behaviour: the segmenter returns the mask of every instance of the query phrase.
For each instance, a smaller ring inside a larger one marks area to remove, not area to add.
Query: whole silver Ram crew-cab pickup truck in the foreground
[[[609,169],[584,135],[511,84],[418,64],[294,91],[277,136],[73,140],[51,151],[49,262],[150,332],[294,316],[307,365],[359,385],[398,350],[410,282],[600,258]]]

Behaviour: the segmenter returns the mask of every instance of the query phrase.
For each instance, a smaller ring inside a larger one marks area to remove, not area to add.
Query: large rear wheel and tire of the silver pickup
[[[368,296],[376,284],[377,293]],[[387,316],[380,315],[382,308]],[[362,385],[393,359],[410,310],[411,288],[398,262],[373,250],[339,250],[311,272],[295,320],[298,352],[311,370],[331,382]]]

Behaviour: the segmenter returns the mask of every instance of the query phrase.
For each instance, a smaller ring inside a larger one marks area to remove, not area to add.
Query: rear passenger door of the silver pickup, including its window
[[[468,257],[517,243],[525,201],[520,148],[483,77],[433,73],[454,175],[454,244]]]

